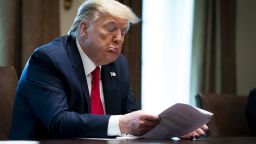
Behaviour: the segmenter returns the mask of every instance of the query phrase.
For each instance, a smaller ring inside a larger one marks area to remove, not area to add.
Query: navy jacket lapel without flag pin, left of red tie
[[[73,38],[72,36],[69,36],[69,40],[67,44],[68,44],[67,51],[70,57],[72,68],[76,73],[77,79],[80,83],[81,89],[83,91],[84,97],[87,102],[87,110],[89,112],[90,111],[90,95],[88,91],[87,80],[85,77],[82,59],[79,54],[75,38]]]

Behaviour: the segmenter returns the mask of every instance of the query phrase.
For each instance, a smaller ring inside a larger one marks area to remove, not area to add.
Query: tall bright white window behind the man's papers
[[[143,7],[142,109],[159,114],[189,103],[193,0],[143,0]]]

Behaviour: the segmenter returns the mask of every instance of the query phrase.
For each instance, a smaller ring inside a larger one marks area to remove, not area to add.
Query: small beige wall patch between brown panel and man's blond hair
[[[65,10],[63,6],[64,0],[60,0],[60,35],[67,34],[76,16],[77,8],[82,2],[83,0],[73,0],[71,9]]]

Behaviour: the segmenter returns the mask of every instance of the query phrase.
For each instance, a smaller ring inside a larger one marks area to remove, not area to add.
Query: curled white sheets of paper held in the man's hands
[[[180,137],[206,124],[213,113],[187,104],[177,103],[159,114],[160,124],[142,138],[170,139]]]

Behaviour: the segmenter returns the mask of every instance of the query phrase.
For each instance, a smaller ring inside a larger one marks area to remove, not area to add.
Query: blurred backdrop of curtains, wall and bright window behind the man
[[[198,93],[247,96],[255,87],[255,0],[119,1],[141,18],[123,54],[142,109],[195,105]],[[66,35],[82,2],[1,0],[0,66],[19,77],[38,46]]]

